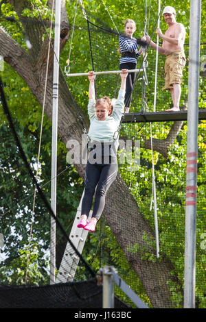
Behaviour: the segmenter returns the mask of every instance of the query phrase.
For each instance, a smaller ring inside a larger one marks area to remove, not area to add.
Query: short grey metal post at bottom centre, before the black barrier
[[[103,308],[114,308],[113,267],[106,266],[103,274]]]

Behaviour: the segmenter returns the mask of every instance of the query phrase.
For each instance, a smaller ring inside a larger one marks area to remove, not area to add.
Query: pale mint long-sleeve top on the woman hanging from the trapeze
[[[119,122],[121,121],[122,114],[124,113],[124,95],[125,90],[119,90],[117,101],[113,114],[108,116],[104,121],[98,121],[95,113],[95,99],[89,99],[88,114],[90,120],[89,139],[98,142],[112,142],[114,141],[114,134],[117,132]],[[119,140],[115,141],[115,149],[117,151]]]

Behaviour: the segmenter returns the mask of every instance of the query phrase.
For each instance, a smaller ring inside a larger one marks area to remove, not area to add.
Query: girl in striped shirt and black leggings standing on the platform
[[[124,23],[125,36],[119,36],[119,51],[122,54],[120,58],[119,70],[122,69],[136,69],[137,59],[141,55],[141,49],[138,51],[138,45],[136,38],[133,38],[133,34],[136,30],[136,23],[132,19],[126,19]],[[126,93],[124,103],[126,106],[126,113],[129,112],[130,103],[132,100],[133,85],[135,83],[135,73],[128,73],[126,78]]]

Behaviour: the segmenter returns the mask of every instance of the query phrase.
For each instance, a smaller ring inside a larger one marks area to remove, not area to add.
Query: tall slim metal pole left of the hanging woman
[[[52,184],[51,207],[56,215],[56,159],[58,135],[58,78],[59,78],[59,51],[60,51],[60,7],[61,1],[55,2],[55,34],[54,34],[54,73],[52,97]],[[51,217],[51,253],[50,253],[50,284],[55,282],[56,271],[56,221]]]

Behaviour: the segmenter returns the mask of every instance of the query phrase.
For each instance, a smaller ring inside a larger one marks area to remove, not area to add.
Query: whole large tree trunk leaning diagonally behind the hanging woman
[[[10,1],[10,3],[14,5],[19,15],[21,15],[21,10],[24,8],[25,3],[29,5],[28,1],[23,0]],[[39,34],[42,34],[42,28],[39,30]],[[61,49],[65,46],[68,37],[69,28],[64,25],[60,37]],[[3,55],[5,62],[10,64],[25,80],[37,101],[42,106],[45,88],[46,53],[49,42],[45,40],[41,44],[39,39],[36,40],[34,38],[31,42],[33,44],[36,42],[39,45],[38,55],[36,55],[35,51],[36,57],[34,57],[34,51],[26,53],[3,29],[0,29],[0,54]],[[51,51],[45,101],[45,114],[47,114],[50,121],[52,121],[52,55],[53,53]],[[67,145],[69,140],[77,140],[81,147],[82,127],[78,121],[78,116],[82,116],[87,129],[89,128],[89,121],[84,112],[77,106],[76,101],[74,101],[61,73],[58,111],[58,135],[62,139],[62,142]],[[84,177],[84,164],[75,164],[75,166],[80,176]],[[111,230],[113,230],[113,234],[117,238],[119,245],[122,247],[130,266],[137,273],[144,285],[152,306],[154,308],[171,308],[171,292],[167,282],[172,279],[172,264],[165,256],[161,260],[156,260],[156,262],[147,259],[146,253],[151,253],[155,256],[155,247],[147,243],[143,237],[147,236],[147,238],[154,242],[155,234],[149,223],[144,219],[144,215],[139,212],[135,199],[120,176],[117,176],[117,179],[108,191],[104,216]]]

